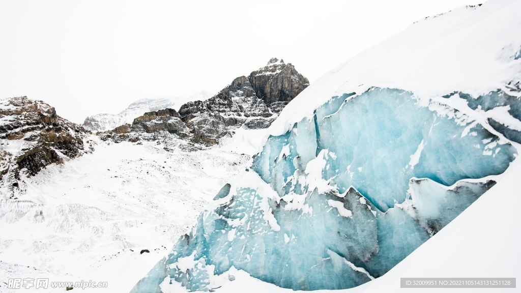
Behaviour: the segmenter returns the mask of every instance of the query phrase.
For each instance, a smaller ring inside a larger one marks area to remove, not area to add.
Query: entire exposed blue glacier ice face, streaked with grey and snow
[[[452,221],[516,156],[472,118],[411,92],[334,96],[269,137],[132,292],[174,282],[213,290],[232,266],[294,290],[361,285]]]

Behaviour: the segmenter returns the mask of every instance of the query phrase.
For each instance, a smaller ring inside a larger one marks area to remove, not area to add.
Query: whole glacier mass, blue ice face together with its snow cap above
[[[294,290],[388,272],[517,157],[520,15],[463,7],[328,72],[132,292],[212,290],[232,266]]]

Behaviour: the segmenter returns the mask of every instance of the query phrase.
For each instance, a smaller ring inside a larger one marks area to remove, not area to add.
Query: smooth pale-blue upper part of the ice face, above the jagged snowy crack
[[[317,113],[324,111],[322,108],[330,105],[317,109]],[[451,114],[456,116],[455,112]],[[303,120],[286,135],[270,138],[255,157],[253,169],[280,191],[295,166],[308,162],[311,151],[297,151],[296,142],[304,130],[302,143],[317,145],[315,153],[327,149],[332,154],[322,177],[340,193],[356,187],[383,212],[395,201],[405,200],[412,177],[450,186],[465,178],[503,173],[508,166],[505,162],[514,158],[514,147],[498,144],[499,138],[479,124],[466,129],[471,120],[451,117],[418,106],[410,92],[371,89],[344,100],[338,111],[320,121],[316,119],[315,127]],[[288,154],[280,160],[279,154],[288,146]],[[417,151],[419,156],[414,157]],[[293,162],[297,156],[297,162]]]

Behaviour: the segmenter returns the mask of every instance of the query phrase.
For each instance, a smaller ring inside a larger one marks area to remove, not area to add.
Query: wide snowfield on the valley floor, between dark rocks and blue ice
[[[264,134],[245,130],[240,138],[255,136]],[[9,278],[28,277],[91,279],[108,282],[111,292],[130,291],[251,158],[243,154],[251,146],[233,138],[233,147],[223,147],[234,151],[196,152],[172,147],[182,140],[165,151],[156,141],[89,139],[93,153],[47,166],[24,179],[28,190],[18,200],[0,201],[1,292],[10,291]]]

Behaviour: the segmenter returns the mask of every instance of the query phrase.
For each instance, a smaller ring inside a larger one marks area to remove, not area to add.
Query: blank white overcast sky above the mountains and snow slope
[[[158,96],[217,93],[284,59],[313,82],[414,21],[482,0],[0,0],[0,97],[82,123]]]

